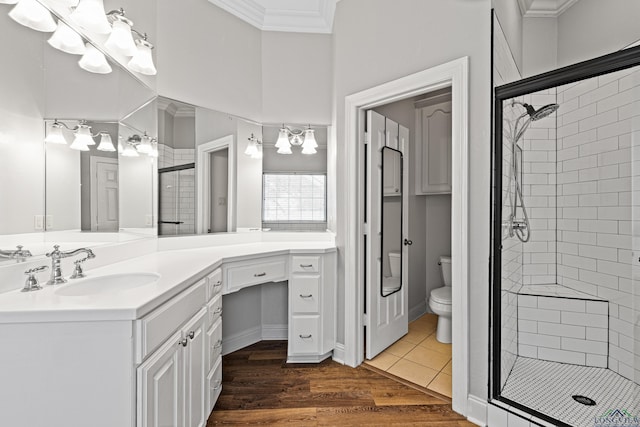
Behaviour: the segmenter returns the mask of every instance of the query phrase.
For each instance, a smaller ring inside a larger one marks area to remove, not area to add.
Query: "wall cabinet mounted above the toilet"
[[[451,101],[416,108],[416,194],[451,193]]]

